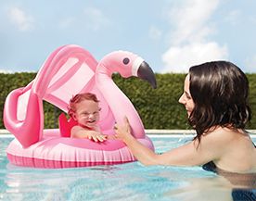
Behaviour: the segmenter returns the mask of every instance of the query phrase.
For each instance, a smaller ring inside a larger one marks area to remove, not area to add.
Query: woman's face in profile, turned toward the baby
[[[184,93],[181,95],[181,97],[179,99],[179,103],[181,103],[185,106],[187,116],[189,117],[195,107],[195,103],[194,103],[192,96],[189,92],[189,74],[186,75],[186,79],[184,82]]]

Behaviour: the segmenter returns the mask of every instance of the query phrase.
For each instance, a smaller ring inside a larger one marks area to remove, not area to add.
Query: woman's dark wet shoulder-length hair
[[[191,67],[189,76],[195,107],[188,121],[198,142],[214,126],[245,129],[251,111],[249,82],[241,69],[228,61],[212,61]]]

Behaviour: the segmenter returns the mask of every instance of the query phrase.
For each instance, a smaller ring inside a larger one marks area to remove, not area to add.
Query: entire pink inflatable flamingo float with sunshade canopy
[[[152,69],[131,52],[115,51],[97,62],[78,45],[65,45],[54,51],[32,82],[6,97],[4,123],[15,136],[6,149],[9,161],[18,166],[50,169],[134,161],[120,140],[95,143],[70,138],[72,122],[63,114],[59,117],[59,129],[44,129],[43,100],[67,112],[71,96],[83,92],[94,93],[100,100],[99,126],[103,133],[114,134],[115,122],[122,123],[127,116],[134,137],[154,149],[133,104],[112,81],[114,72],[123,78],[142,78],[156,87]]]

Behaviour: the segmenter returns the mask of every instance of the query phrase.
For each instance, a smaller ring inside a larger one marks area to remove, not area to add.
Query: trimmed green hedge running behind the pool
[[[35,73],[0,73],[0,114],[3,117],[3,108],[6,95],[13,89],[26,86],[31,82]],[[247,74],[250,81],[250,106],[252,120],[248,129],[256,129],[256,74]],[[152,89],[147,82],[137,78],[123,79],[119,74],[113,76],[113,81],[126,94],[137,109],[146,129],[190,129],[187,125],[186,111],[178,103],[183,93],[185,74],[156,74],[158,88]],[[60,110],[44,102],[45,128],[58,126]],[[0,120],[0,129],[4,129],[3,120]]]

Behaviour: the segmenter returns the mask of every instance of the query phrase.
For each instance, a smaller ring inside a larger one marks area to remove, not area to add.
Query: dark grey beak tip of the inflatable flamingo
[[[155,77],[155,73],[149,67],[146,61],[143,61],[137,70],[137,76],[150,83],[153,89],[157,88],[157,81]]]

